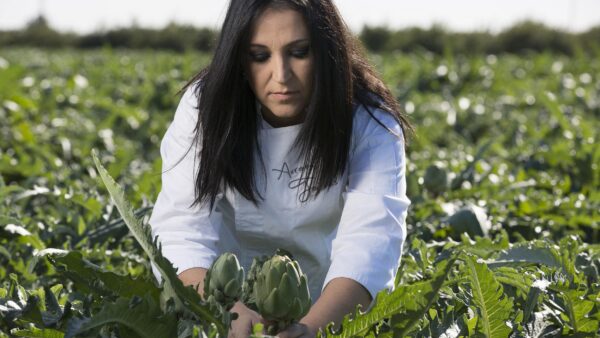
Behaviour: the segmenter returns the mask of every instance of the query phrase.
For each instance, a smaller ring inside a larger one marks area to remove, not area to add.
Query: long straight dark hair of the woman
[[[263,199],[254,180],[254,154],[260,154],[256,99],[243,72],[252,25],[267,8],[298,11],[309,30],[313,92],[292,147],[304,158],[308,198],[335,184],[346,168],[353,104],[364,105],[373,118],[369,107],[389,112],[400,124],[404,141],[412,132],[331,0],[231,0],[212,62],[183,89],[194,85],[199,97],[195,132],[201,150],[194,205],[210,201],[212,210],[216,196],[228,187],[255,205],[257,196]]]

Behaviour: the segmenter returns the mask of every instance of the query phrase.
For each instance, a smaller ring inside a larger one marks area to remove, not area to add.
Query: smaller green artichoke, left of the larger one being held
[[[224,253],[217,258],[204,277],[204,297],[211,297],[226,310],[233,307],[242,296],[244,268],[232,253]]]

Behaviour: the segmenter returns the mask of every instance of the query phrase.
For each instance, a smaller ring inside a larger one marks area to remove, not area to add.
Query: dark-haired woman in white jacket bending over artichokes
[[[392,288],[406,237],[406,118],[330,0],[232,0],[212,63],[187,86],[150,224],[187,285],[222,252],[247,269],[291,252],[310,337]],[[155,270],[157,278],[160,278]],[[260,316],[237,303],[232,336]]]

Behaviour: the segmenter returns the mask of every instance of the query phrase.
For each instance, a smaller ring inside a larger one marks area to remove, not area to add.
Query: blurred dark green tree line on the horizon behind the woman
[[[208,28],[169,24],[162,29],[129,27],[84,35],[61,33],[44,17],[31,21],[24,29],[0,31],[0,47],[34,46],[46,48],[168,49],[174,51],[211,51],[219,32]],[[429,29],[392,30],[386,26],[365,26],[359,33],[372,52],[410,52],[428,50],[463,54],[526,53],[552,51],[565,55],[600,54],[600,25],[583,33],[570,33],[544,24],[525,21],[498,34],[490,32],[451,32],[442,26]]]

